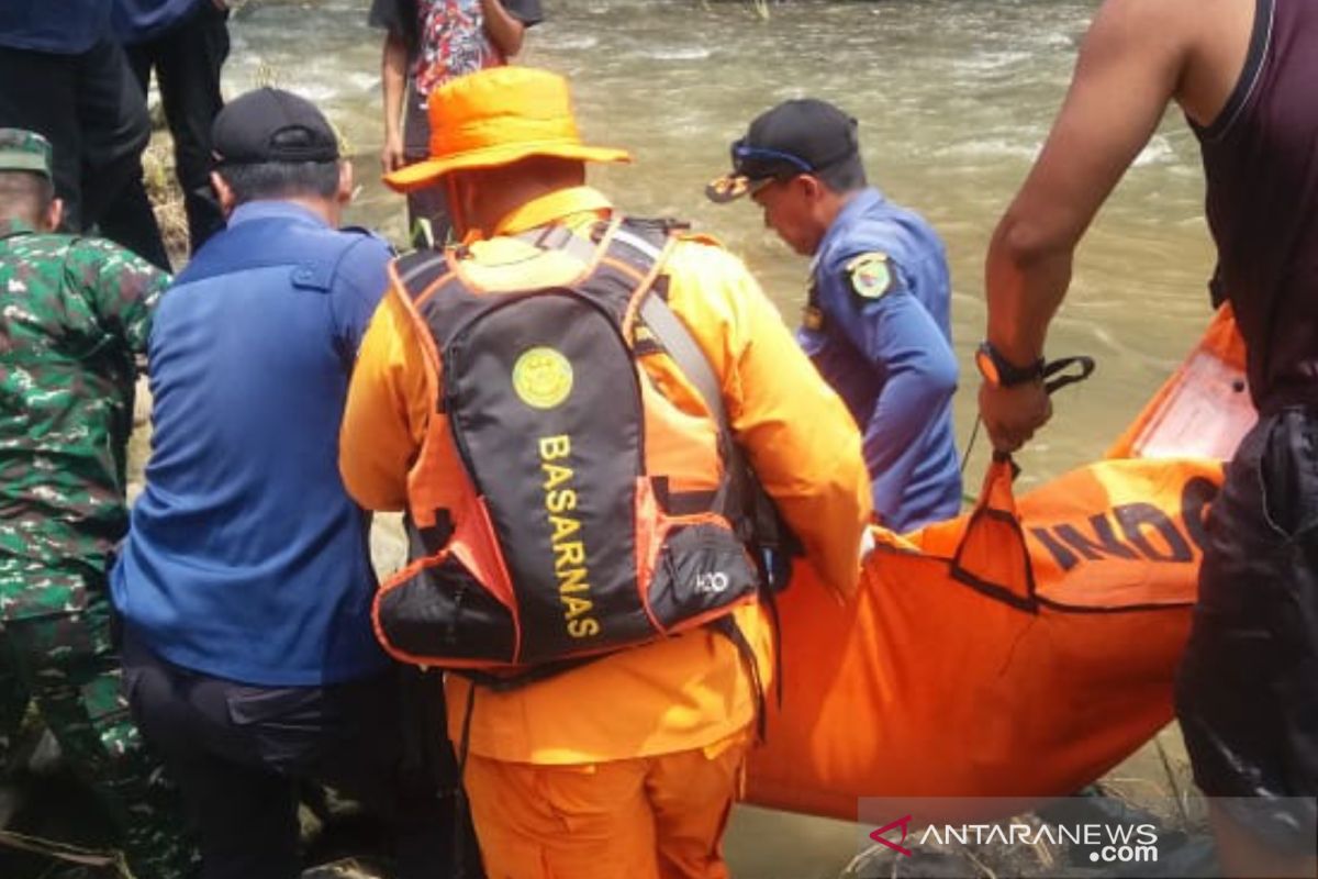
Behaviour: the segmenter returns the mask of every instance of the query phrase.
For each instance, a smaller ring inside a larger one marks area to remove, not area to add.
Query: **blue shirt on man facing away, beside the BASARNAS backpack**
[[[134,638],[170,663],[264,687],[386,667],[339,423],[390,256],[365,232],[253,202],[161,299],[146,490],[112,590]]]

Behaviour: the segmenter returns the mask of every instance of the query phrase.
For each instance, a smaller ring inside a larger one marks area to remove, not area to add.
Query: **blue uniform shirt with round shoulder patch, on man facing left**
[[[957,358],[942,241],[875,188],[853,198],[815,254],[797,339],[865,435],[874,511],[907,531],[957,515]]]

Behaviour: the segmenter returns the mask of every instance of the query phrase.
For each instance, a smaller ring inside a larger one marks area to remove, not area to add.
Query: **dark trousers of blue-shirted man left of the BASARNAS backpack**
[[[196,828],[203,879],[299,876],[306,780],[390,824],[401,879],[448,875],[453,800],[436,796],[434,775],[407,759],[395,669],[328,687],[249,687],[173,666],[130,630],[123,660],[133,717]]]

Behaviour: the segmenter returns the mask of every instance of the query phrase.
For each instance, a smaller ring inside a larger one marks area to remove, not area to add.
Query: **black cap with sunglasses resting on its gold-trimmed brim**
[[[857,121],[815,98],[787,100],[755,117],[746,136],[733,141],[733,170],[705,186],[710,202],[731,202],[759,183],[816,174],[859,161]]]

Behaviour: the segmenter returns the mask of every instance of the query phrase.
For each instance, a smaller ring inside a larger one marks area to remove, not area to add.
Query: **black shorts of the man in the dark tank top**
[[[1209,513],[1176,708],[1210,797],[1313,853],[1318,795],[1318,410],[1265,415]],[[1302,797],[1302,799],[1301,799]]]

